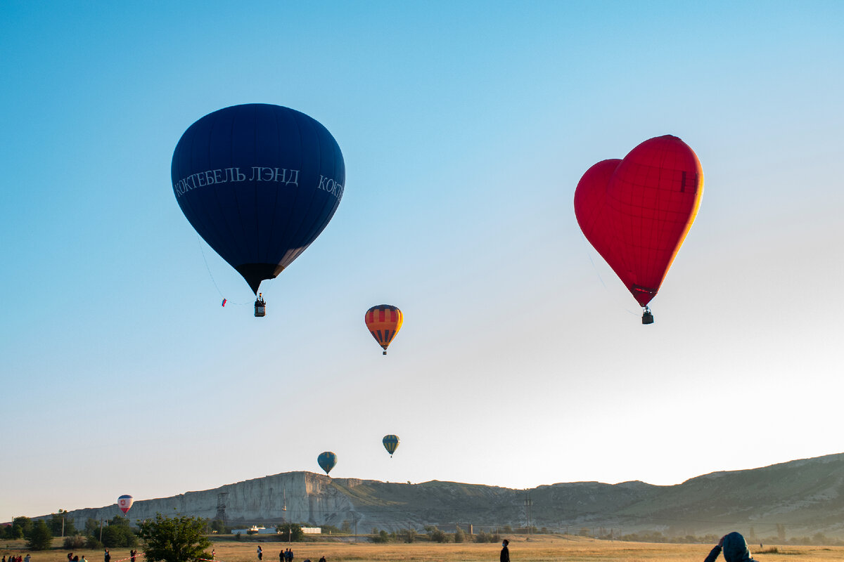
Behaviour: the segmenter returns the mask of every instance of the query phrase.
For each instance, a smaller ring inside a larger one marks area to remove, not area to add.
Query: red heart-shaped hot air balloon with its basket
[[[683,240],[703,195],[695,152],[676,136],[642,142],[623,160],[603,160],[575,190],[575,216],[587,240],[613,268],[645,314]]]

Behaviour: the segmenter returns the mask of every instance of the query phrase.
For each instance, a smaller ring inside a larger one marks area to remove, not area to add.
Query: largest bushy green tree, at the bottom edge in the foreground
[[[138,526],[143,540],[143,554],[149,562],[196,562],[209,559],[211,541],[204,536],[202,517],[164,517],[160,513]]]

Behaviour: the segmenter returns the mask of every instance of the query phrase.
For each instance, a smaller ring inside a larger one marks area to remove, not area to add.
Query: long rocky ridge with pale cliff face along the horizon
[[[674,486],[644,482],[575,482],[529,490],[532,520],[551,530],[605,527],[615,533],[661,530],[673,534],[738,530],[759,537],[825,533],[844,538],[844,454],[810,458],[765,468],[706,474]],[[225,517],[230,524],[356,522],[360,533],[373,527],[395,530],[460,524],[475,531],[526,524],[525,490],[431,481],[394,484],[332,479],[294,472],[187,492],[157,500],[136,500],[133,520],[173,513]],[[285,508],[286,507],[286,511]],[[116,505],[70,512],[77,527],[88,517],[110,519]]]

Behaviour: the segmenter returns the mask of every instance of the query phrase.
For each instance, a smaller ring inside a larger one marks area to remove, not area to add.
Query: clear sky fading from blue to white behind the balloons
[[[841,452],[842,91],[835,1],[4,2],[0,521],[324,450],[508,487]],[[347,170],[262,319],[170,183],[187,126],[252,102]],[[706,186],[642,326],[572,197],[663,134]]]

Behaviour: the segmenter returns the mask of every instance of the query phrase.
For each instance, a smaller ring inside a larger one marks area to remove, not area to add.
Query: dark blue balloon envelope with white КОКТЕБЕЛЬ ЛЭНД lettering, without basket
[[[176,145],[170,174],[192,227],[256,294],[322,233],[346,180],[331,133],[271,104],[197,120]]]

